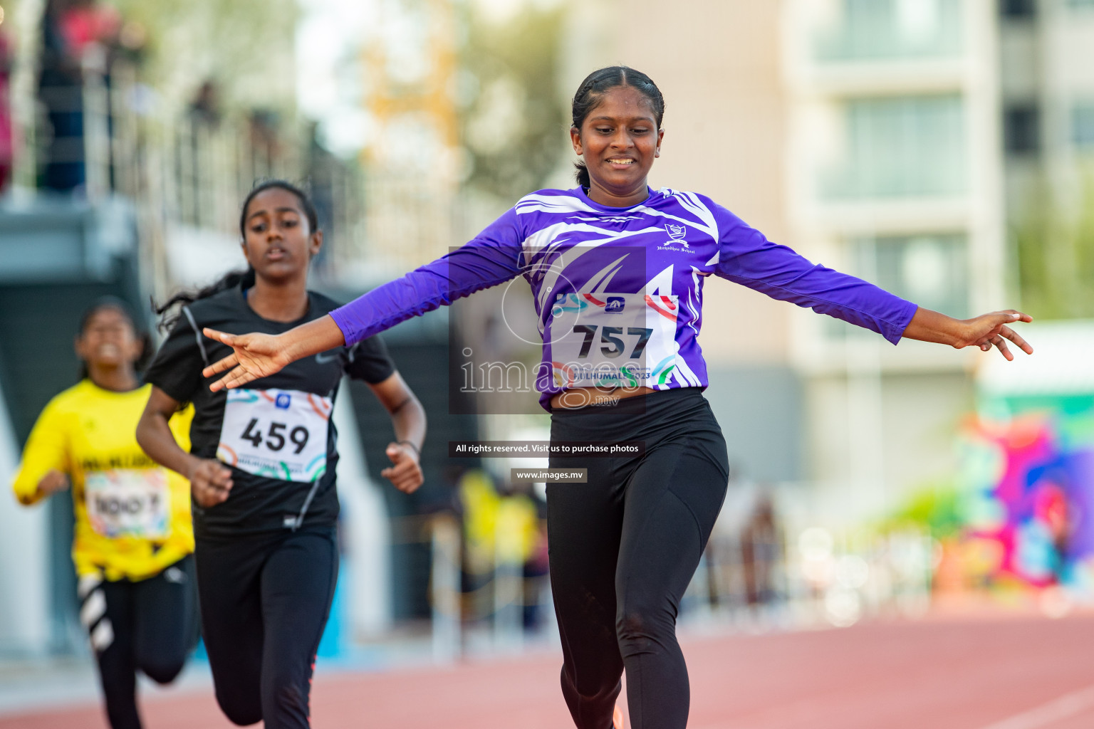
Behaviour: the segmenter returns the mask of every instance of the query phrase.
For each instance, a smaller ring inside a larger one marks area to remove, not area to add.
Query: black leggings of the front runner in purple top
[[[551,414],[551,440],[644,440],[631,458],[556,458],[587,483],[547,485],[562,693],[578,729],[609,729],[627,671],[632,729],[684,729],[676,614],[725,498],[721,428],[696,388]]]

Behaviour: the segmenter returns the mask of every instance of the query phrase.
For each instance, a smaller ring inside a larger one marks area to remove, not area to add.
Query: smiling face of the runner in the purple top
[[[613,207],[644,200],[645,178],[661,156],[664,133],[650,99],[640,91],[615,86],[604,92],[581,129],[570,128],[573,151],[589,169],[589,197]]]

